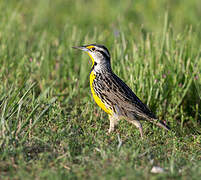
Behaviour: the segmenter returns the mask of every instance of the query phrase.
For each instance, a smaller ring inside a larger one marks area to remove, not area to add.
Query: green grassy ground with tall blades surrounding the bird
[[[199,179],[200,1],[0,1],[0,179]],[[112,67],[172,132],[109,121],[89,57]],[[153,166],[164,173],[153,174]]]

